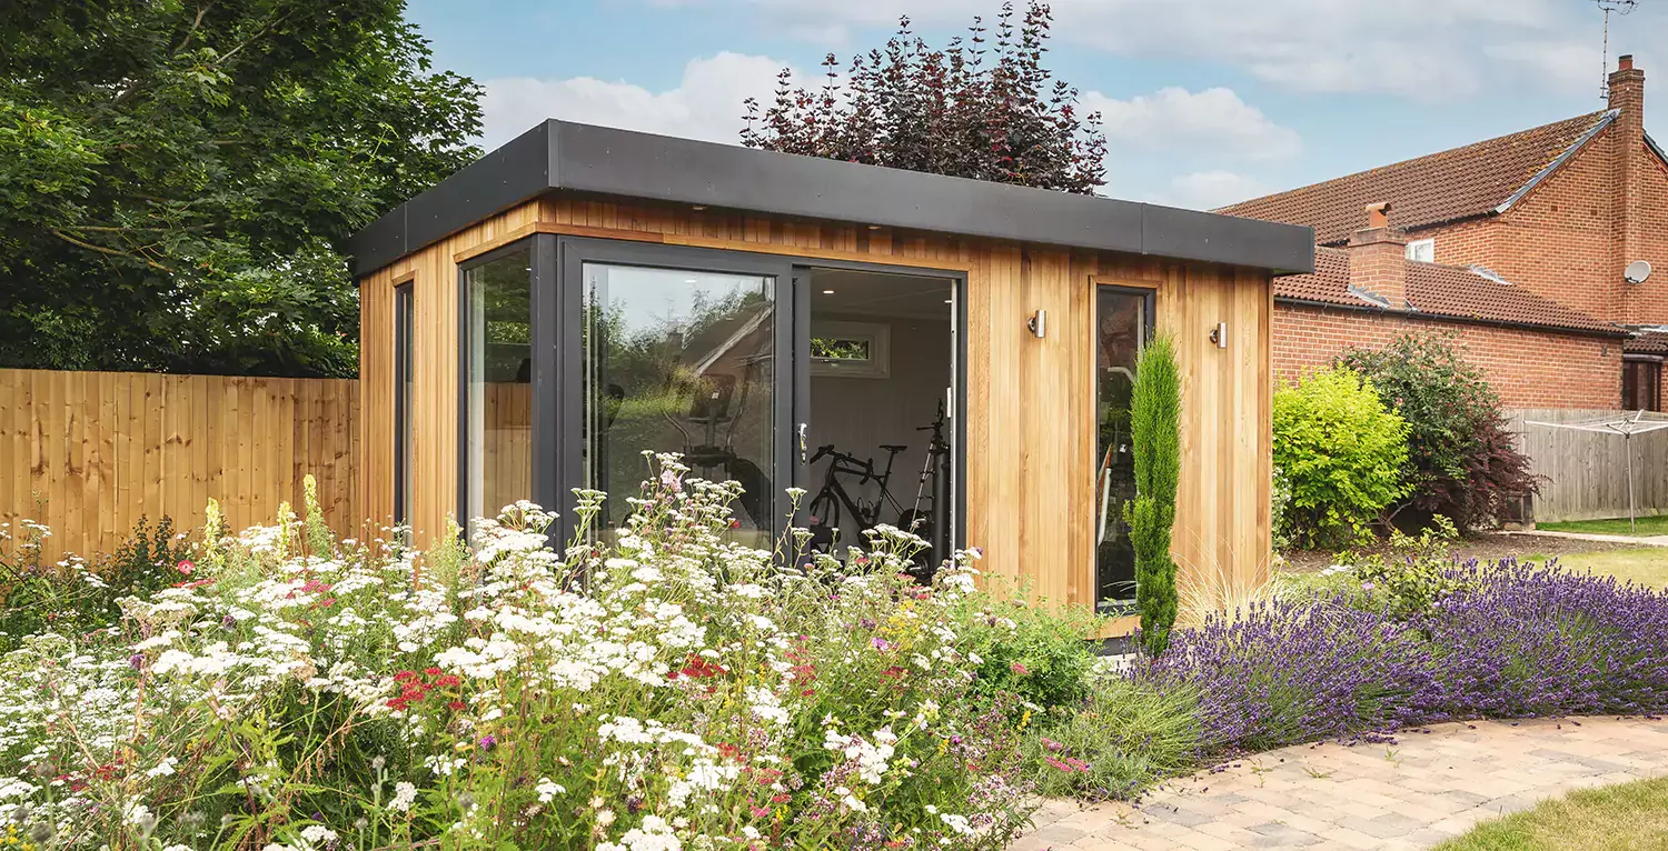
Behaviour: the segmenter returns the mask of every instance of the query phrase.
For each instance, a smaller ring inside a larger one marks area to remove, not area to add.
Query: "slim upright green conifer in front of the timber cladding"
[[[1181,481],[1181,370],[1169,336],[1158,335],[1136,358],[1129,398],[1136,498],[1124,503],[1136,551],[1136,610],[1141,643],[1158,656],[1176,623],[1176,561],[1169,556]]]

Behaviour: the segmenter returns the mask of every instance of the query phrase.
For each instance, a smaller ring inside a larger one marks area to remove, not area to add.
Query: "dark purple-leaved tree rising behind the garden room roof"
[[[792,85],[784,68],[769,108],[747,100],[751,148],[827,157],[997,183],[1091,193],[1106,182],[1099,115],[1083,115],[1078,90],[1042,67],[1048,3],[1031,0],[1019,20],[1004,3],[989,30],[937,50],[902,18],[884,48],[822,62],[819,90]]]

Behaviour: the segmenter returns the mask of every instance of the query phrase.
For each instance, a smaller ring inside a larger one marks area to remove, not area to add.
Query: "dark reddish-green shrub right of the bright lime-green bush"
[[[1409,491],[1393,510],[1404,525],[1423,526],[1443,515],[1465,531],[1538,491],[1530,460],[1513,446],[1500,396],[1460,355],[1451,333],[1408,333],[1378,351],[1346,351],[1339,363],[1366,375],[1408,423],[1403,478]]]

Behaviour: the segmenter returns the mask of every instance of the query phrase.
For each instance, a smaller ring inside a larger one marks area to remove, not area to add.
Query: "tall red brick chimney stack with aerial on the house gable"
[[[1610,75],[1610,108],[1616,110],[1616,120],[1610,127],[1610,150],[1616,182],[1615,221],[1620,230],[1611,243],[1615,246],[1611,265],[1616,286],[1621,288],[1621,298],[1613,303],[1618,305],[1621,315],[1606,318],[1626,323],[1638,321],[1638,316],[1631,315],[1631,301],[1635,300],[1630,295],[1633,290],[1621,283],[1621,270],[1630,261],[1645,256],[1645,231],[1648,228],[1645,175],[1650,167],[1648,157],[1651,157],[1645,150],[1645,72],[1633,67],[1631,55],[1616,58],[1616,70]]]

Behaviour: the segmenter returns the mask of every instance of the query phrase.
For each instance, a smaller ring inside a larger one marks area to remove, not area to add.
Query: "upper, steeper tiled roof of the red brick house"
[[[1216,210],[1246,218],[1309,225],[1316,245],[1343,245],[1361,228],[1361,208],[1389,202],[1404,230],[1496,212],[1613,120],[1595,112],[1463,148],[1431,153]]]

